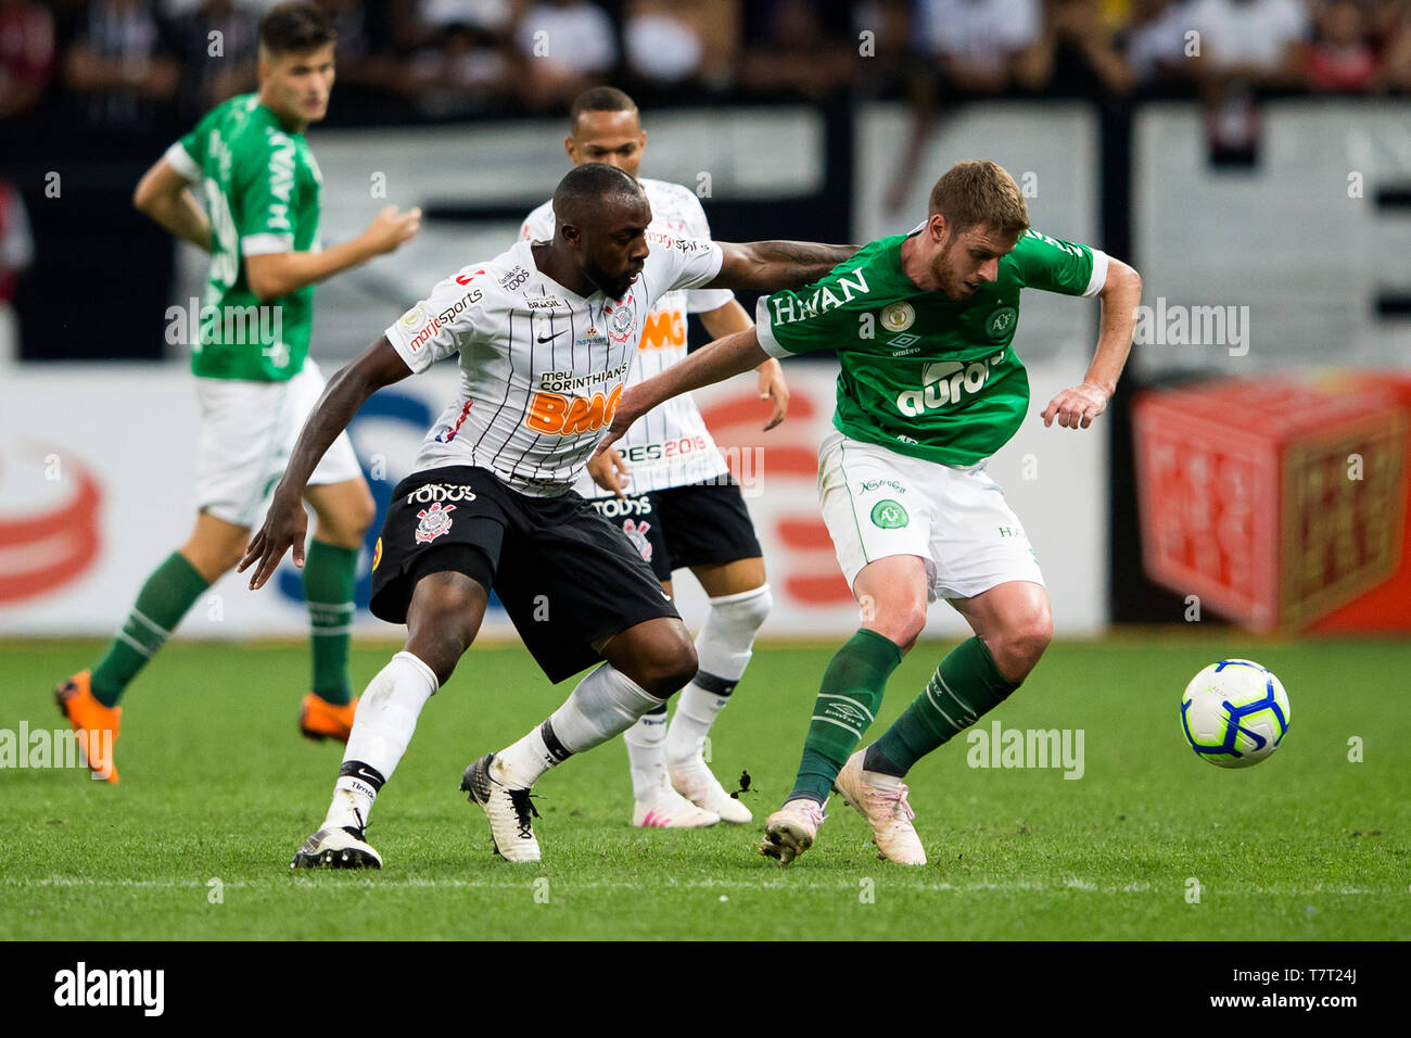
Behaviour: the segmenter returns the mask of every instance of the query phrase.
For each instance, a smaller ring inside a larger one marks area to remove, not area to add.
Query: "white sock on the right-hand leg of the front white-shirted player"
[[[601,664],[543,724],[495,754],[491,774],[512,789],[528,789],[549,768],[626,732],[660,703],[611,664]]]

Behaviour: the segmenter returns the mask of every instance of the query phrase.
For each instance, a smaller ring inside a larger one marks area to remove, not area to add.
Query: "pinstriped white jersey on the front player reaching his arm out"
[[[461,267],[392,322],[387,340],[412,371],[460,353],[460,391],[416,469],[478,465],[522,494],[567,493],[612,421],[653,304],[720,273],[711,241],[648,230],[646,244],[621,299],[574,295],[519,241]]]

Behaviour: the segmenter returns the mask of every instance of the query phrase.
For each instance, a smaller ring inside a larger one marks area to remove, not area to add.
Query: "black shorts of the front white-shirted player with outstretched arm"
[[[680,616],[641,554],[576,493],[526,497],[468,465],[396,484],[373,552],[373,616],[406,623],[416,582],[446,571],[491,582],[553,682],[598,662],[598,638]]]

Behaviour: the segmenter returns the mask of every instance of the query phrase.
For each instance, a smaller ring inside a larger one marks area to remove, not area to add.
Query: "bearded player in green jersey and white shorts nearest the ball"
[[[1126,363],[1141,280],[1096,249],[1031,230],[1013,178],[971,161],[937,181],[926,223],[910,234],[872,241],[807,288],[761,298],[753,329],[628,390],[598,446],[663,400],[765,356],[838,353],[837,431],[818,451],[818,487],[862,626],[824,672],[793,792],[769,816],[761,852],[780,864],[813,845],[830,791],[866,816],[882,857],[926,864],[902,778],[1017,689],[1053,637],[1037,558],[985,473],[1029,410],[1013,347],[1022,288],[1102,299],[1082,384],[1043,411],[1046,426],[1057,418],[1086,429]],[[938,597],[975,637],[856,750]]]

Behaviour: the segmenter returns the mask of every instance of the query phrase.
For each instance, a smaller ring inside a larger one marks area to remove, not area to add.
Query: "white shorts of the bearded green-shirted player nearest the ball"
[[[1038,558],[985,462],[952,467],[832,432],[818,497],[848,587],[869,562],[919,555],[927,596],[969,599],[1007,580],[1041,585]]]

